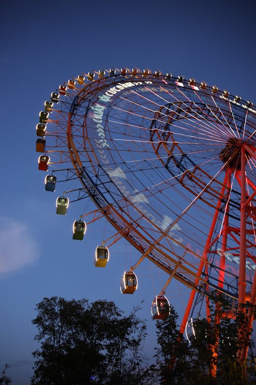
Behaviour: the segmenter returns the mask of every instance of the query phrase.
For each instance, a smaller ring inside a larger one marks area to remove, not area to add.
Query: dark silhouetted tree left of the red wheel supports
[[[40,349],[32,384],[125,385],[150,384],[150,372],[143,367],[141,349],[145,322],[129,316],[112,301],[44,298],[36,305],[35,339]]]

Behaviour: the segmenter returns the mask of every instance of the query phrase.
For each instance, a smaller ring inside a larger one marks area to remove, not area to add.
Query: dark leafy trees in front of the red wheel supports
[[[249,341],[246,313],[238,312],[234,320],[227,299],[217,295],[212,303],[209,320],[194,320],[191,343],[179,334],[178,315],[172,305],[170,316],[157,321],[157,364],[163,384],[256,384],[253,341]],[[239,330],[244,332],[242,339]],[[246,344],[250,347],[248,359],[240,365],[237,351]]]

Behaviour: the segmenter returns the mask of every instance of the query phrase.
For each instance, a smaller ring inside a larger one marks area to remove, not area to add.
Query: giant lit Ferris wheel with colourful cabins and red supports
[[[58,197],[57,214],[90,197],[93,221],[105,217],[114,241],[140,253],[122,293],[136,290],[145,258],[168,275],[155,318],[170,280],[191,289],[183,332],[198,296],[218,291],[234,313],[238,303],[255,305],[255,127],[256,107],[216,86],[149,69],[90,71],[60,85],[40,111],[38,168],[52,170],[48,191],[77,181]],[[83,239],[86,218],[74,222],[74,239]],[[109,249],[98,252],[103,267]]]

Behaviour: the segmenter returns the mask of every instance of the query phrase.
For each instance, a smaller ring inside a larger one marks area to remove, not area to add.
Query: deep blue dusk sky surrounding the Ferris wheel
[[[56,196],[44,191],[37,170],[38,113],[59,84],[113,66],[182,74],[255,103],[255,4],[10,0],[0,4],[0,30],[0,370],[9,363],[12,383],[29,384],[37,348],[34,307],[53,295],[114,300],[125,312],[144,300],[141,318],[148,320],[152,355],[150,305],[165,276],[145,261],[137,271],[138,291],[122,296],[119,281],[134,259],[132,247],[121,240],[111,249],[110,264],[95,269],[95,246],[111,233],[110,226],[96,222],[90,237],[72,241],[74,218],[84,205],[88,211],[94,207],[80,201],[69,218],[55,215]],[[179,314],[188,293],[176,282],[168,287]]]

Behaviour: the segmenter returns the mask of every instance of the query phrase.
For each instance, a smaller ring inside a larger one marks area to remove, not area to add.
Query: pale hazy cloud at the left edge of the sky
[[[38,244],[25,223],[0,218],[0,273],[13,272],[33,263]]]

